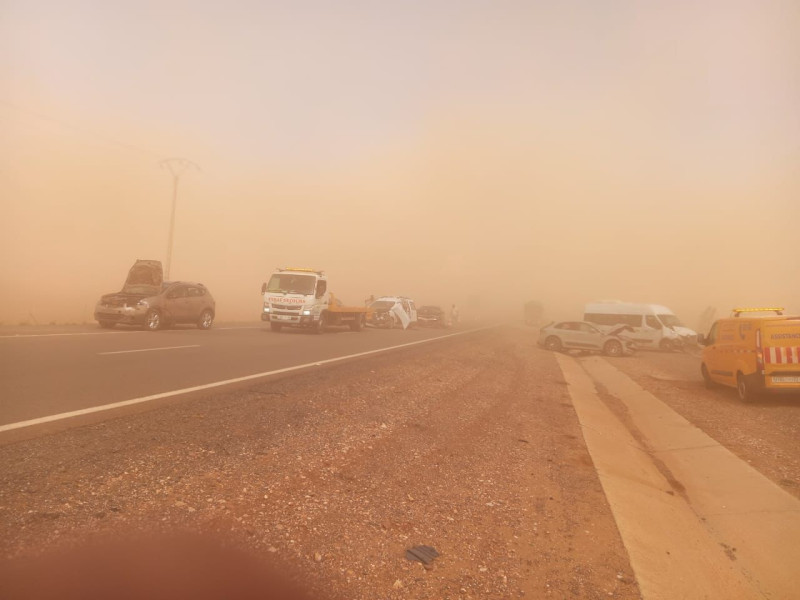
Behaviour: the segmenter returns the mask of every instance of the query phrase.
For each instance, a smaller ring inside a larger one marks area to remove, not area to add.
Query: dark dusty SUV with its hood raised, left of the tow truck
[[[215,302],[202,283],[164,281],[161,262],[137,260],[128,272],[122,290],[105,294],[94,309],[100,327],[142,325],[156,331],[178,323],[193,323],[209,329],[214,322]]]

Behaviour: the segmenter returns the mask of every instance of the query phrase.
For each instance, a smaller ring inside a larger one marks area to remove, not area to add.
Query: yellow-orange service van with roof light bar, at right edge
[[[707,336],[700,370],[706,387],[735,387],[748,402],[762,393],[800,393],[800,316],[782,308],[736,308]]]

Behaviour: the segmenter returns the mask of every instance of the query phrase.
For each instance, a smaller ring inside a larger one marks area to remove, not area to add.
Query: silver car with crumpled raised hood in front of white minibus
[[[555,352],[585,350],[607,356],[623,356],[636,351],[636,344],[629,337],[632,333],[628,325],[603,330],[585,321],[562,321],[545,325],[539,330],[539,345]]]

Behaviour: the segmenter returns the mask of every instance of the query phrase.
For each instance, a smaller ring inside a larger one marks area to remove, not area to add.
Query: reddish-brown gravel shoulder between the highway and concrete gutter
[[[228,536],[319,598],[639,597],[561,372],[520,328],[0,447],[6,561],[131,529]]]

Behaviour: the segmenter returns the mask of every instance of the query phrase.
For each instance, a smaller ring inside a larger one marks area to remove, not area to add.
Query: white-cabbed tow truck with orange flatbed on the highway
[[[328,291],[324,271],[298,267],[276,269],[262,284],[261,320],[272,331],[299,327],[323,333],[327,327],[347,326],[361,331],[371,313],[366,306],[345,306]]]

